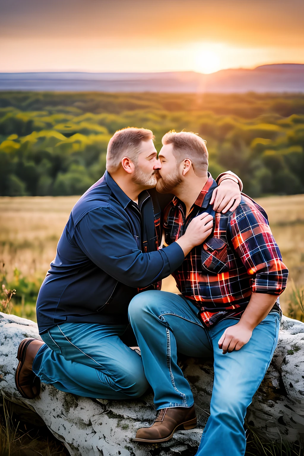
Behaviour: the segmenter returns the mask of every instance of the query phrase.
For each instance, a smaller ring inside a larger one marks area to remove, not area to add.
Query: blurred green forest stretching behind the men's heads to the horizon
[[[304,94],[0,93],[0,195],[80,195],[127,126],[207,140],[213,176],[230,169],[252,197],[304,192]]]

